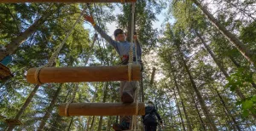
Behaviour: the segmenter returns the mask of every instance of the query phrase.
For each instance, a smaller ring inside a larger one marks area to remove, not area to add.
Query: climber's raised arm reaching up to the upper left
[[[105,31],[102,31],[102,29],[96,25],[94,19],[92,18],[92,16],[88,16],[88,15],[84,15],[84,20],[90,22],[90,24],[95,28],[95,30],[101,34],[101,36],[108,42],[110,43],[113,48],[115,48],[118,51],[117,45],[118,42],[114,41],[112,37],[109,37],[108,34],[106,34]]]

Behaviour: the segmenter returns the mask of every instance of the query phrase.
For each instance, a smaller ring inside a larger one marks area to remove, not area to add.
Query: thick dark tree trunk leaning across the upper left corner
[[[53,11],[47,11],[40,19],[36,20],[31,26],[29,26],[26,31],[21,32],[18,37],[15,37],[11,42],[6,46],[7,51],[0,50],[0,60],[3,60],[9,54],[15,54],[17,48],[20,44],[26,41],[26,38],[31,36],[33,32],[38,30],[39,26],[42,26],[44,22],[53,14]]]

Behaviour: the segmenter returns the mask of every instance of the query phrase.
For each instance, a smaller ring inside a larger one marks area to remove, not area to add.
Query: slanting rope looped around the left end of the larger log
[[[64,40],[62,41],[62,43],[60,44],[60,46],[55,50],[55,52],[51,55],[48,63],[42,67],[40,67],[39,69],[37,69],[37,71],[35,72],[35,80],[37,82],[38,85],[41,85],[43,83],[40,82],[39,79],[39,73],[41,71],[42,68],[44,67],[50,67],[53,66],[55,63],[56,58],[58,57],[58,54],[61,51],[61,48],[63,47],[63,45],[66,43],[67,38],[70,36],[70,34],[72,33],[74,27],[79,23],[80,18],[82,17],[82,15],[84,14],[86,8],[84,8],[84,10],[80,13],[79,18],[76,20],[76,22],[73,24],[72,28],[67,32],[67,36],[64,38]]]

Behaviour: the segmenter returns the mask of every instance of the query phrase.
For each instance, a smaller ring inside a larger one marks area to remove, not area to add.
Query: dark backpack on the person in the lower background
[[[154,115],[154,107],[152,106],[147,106],[145,109],[145,117],[143,119],[144,124],[152,123],[152,122],[157,122],[156,117]]]

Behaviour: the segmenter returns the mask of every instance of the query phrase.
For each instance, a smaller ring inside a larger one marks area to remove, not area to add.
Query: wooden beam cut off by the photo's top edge
[[[1,0],[0,3],[136,3],[137,0]]]

